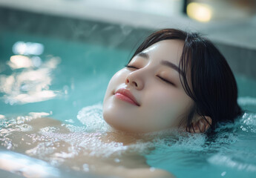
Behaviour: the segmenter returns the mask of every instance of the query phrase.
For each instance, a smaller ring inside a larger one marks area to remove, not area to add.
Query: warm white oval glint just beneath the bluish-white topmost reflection
[[[10,65],[10,67],[12,67],[13,69],[17,69],[32,67],[33,63],[31,59],[27,56],[16,55],[10,57],[10,62],[8,62],[8,65]]]

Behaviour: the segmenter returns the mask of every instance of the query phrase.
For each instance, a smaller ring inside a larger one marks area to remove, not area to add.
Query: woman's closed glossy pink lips
[[[125,88],[120,88],[116,90],[115,96],[116,98],[121,99],[122,101],[129,102],[132,105],[140,106],[140,104],[137,102],[131,91]]]

